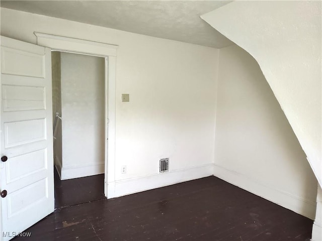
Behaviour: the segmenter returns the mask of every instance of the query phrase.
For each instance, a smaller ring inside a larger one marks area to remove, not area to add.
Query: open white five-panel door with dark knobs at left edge
[[[1,37],[1,240],[54,210],[50,49]]]

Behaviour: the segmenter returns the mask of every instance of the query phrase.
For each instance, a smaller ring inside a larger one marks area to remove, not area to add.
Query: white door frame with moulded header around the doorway
[[[93,55],[105,58],[105,182],[104,193],[107,198],[113,195],[115,181],[115,85],[117,45],[67,38],[42,33],[37,36],[37,45],[54,51]],[[108,188],[108,183],[111,187]],[[108,189],[112,189],[109,195]]]

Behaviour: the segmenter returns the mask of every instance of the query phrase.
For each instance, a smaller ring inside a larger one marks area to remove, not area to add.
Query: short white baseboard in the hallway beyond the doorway
[[[88,165],[77,165],[62,167],[60,173],[61,180],[67,180],[77,177],[87,177],[104,173],[104,162]]]

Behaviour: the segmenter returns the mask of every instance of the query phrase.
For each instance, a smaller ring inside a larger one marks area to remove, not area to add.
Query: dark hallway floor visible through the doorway
[[[105,199],[104,174],[61,181],[56,168],[55,209]]]

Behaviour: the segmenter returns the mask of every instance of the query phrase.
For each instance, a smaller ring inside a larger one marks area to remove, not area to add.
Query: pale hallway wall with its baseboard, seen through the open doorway
[[[61,179],[104,173],[104,58],[61,53]]]

